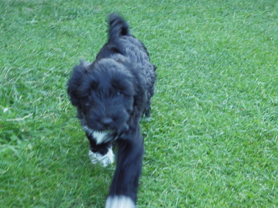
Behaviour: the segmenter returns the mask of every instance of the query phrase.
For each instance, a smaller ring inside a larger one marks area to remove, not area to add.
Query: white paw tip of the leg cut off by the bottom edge
[[[127,196],[109,196],[105,208],[136,208],[136,205]]]

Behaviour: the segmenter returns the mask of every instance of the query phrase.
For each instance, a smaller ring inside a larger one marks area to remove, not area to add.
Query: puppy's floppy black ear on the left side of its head
[[[89,62],[80,61],[80,64],[74,67],[72,77],[67,83],[67,94],[69,94],[70,101],[72,101],[72,105],[74,106],[79,106],[79,99],[77,98],[78,89],[89,65]]]

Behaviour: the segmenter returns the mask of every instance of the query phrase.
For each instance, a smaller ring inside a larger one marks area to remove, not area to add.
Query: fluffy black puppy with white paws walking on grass
[[[117,144],[106,207],[129,208],[136,207],[144,152],[139,122],[143,114],[149,116],[156,67],[122,17],[110,15],[109,25],[108,43],[97,59],[74,67],[68,94],[90,141],[92,163],[111,164],[111,146]]]

